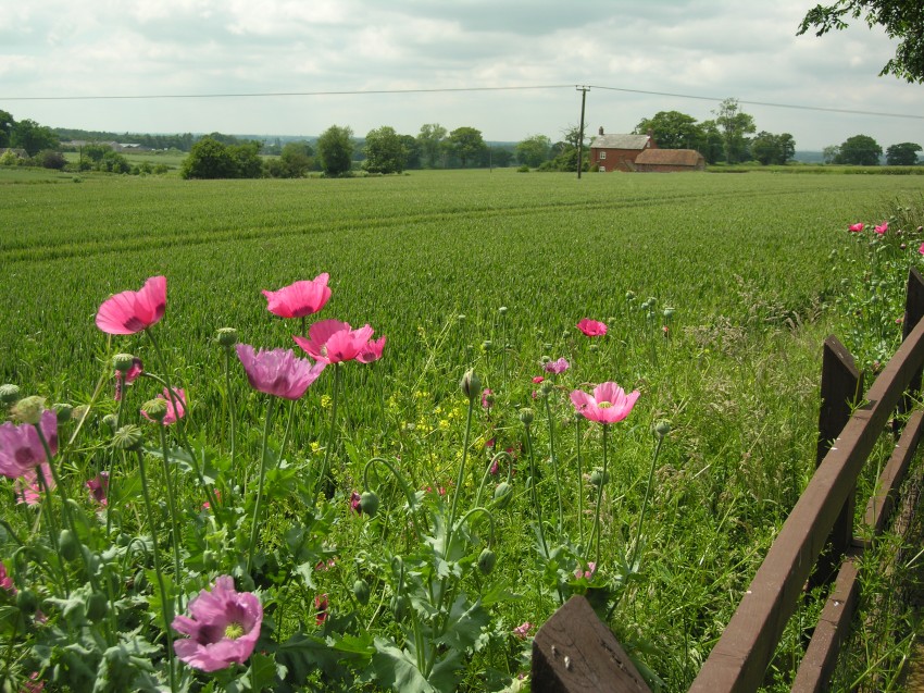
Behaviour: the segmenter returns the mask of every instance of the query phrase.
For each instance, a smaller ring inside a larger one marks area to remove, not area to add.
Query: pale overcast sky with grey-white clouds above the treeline
[[[858,134],[884,149],[924,145],[924,86],[877,76],[895,42],[862,21],[797,37],[815,2],[4,0],[0,109],[117,133],[416,135],[439,123],[558,140],[579,120],[575,85],[590,85],[589,134],[628,133],[658,111],[708,120],[734,97],[759,131],[790,133],[800,150]],[[300,96],[48,99],[282,92]]]

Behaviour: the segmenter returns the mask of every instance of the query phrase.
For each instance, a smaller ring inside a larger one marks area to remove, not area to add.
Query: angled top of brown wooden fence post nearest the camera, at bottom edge
[[[651,693],[612,631],[580,595],[571,597],[533,640],[534,693]]]

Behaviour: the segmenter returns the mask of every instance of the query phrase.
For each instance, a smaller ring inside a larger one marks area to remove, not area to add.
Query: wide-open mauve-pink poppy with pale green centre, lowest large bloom
[[[190,616],[173,619],[173,629],[187,635],[176,640],[176,656],[195,669],[216,671],[244,664],[253,653],[263,622],[263,605],[250,592],[237,592],[230,576],[215,579],[189,603]],[[190,618],[191,617],[191,618]]]

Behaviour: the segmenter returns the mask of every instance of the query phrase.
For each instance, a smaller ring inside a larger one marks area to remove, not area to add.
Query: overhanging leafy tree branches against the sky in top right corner
[[[924,83],[924,3],[919,0],[837,0],[832,4],[816,4],[809,10],[799,26],[797,36],[810,28],[815,36],[832,29],[847,28],[844,17],[864,17],[869,26],[879,25],[891,39],[898,40],[895,58],[889,60],[879,75],[895,75],[907,82]]]

